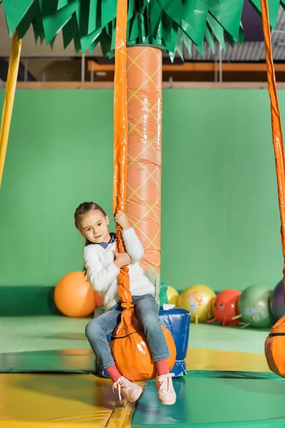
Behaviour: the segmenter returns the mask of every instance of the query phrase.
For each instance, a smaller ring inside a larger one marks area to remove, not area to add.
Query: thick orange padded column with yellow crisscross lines
[[[141,265],[160,285],[162,52],[127,49],[128,184],[126,213],[145,255]]]

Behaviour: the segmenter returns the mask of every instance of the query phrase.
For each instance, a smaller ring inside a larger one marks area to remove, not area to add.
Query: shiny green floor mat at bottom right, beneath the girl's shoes
[[[173,384],[177,401],[165,406],[147,382],[132,428],[285,427],[285,379],[274,374],[194,371]]]

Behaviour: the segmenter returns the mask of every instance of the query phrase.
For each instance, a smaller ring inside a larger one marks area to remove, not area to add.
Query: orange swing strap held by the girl
[[[125,213],[128,168],[128,106],[127,106],[127,14],[128,0],[118,0],[115,30],[115,78],[114,78],[114,180],[113,213]],[[120,226],[116,227],[116,240],[119,253],[125,252]],[[128,267],[121,267],[118,275],[118,293],[121,305],[133,307],[130,294]]]

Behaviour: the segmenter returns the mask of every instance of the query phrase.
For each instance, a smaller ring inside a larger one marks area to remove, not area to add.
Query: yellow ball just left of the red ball
[[[191,322],[205,322],[212,317],[214,297],[214,291],[207,285],[196,284],[180,294],[177,306],[191,312]]]

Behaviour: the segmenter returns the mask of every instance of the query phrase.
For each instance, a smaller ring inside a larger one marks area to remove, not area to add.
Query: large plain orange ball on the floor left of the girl
[[[68,317],[83,318],[94,312],[98,293],[93,290],[84,272],[71,272],[56,285],[56,307]]]

